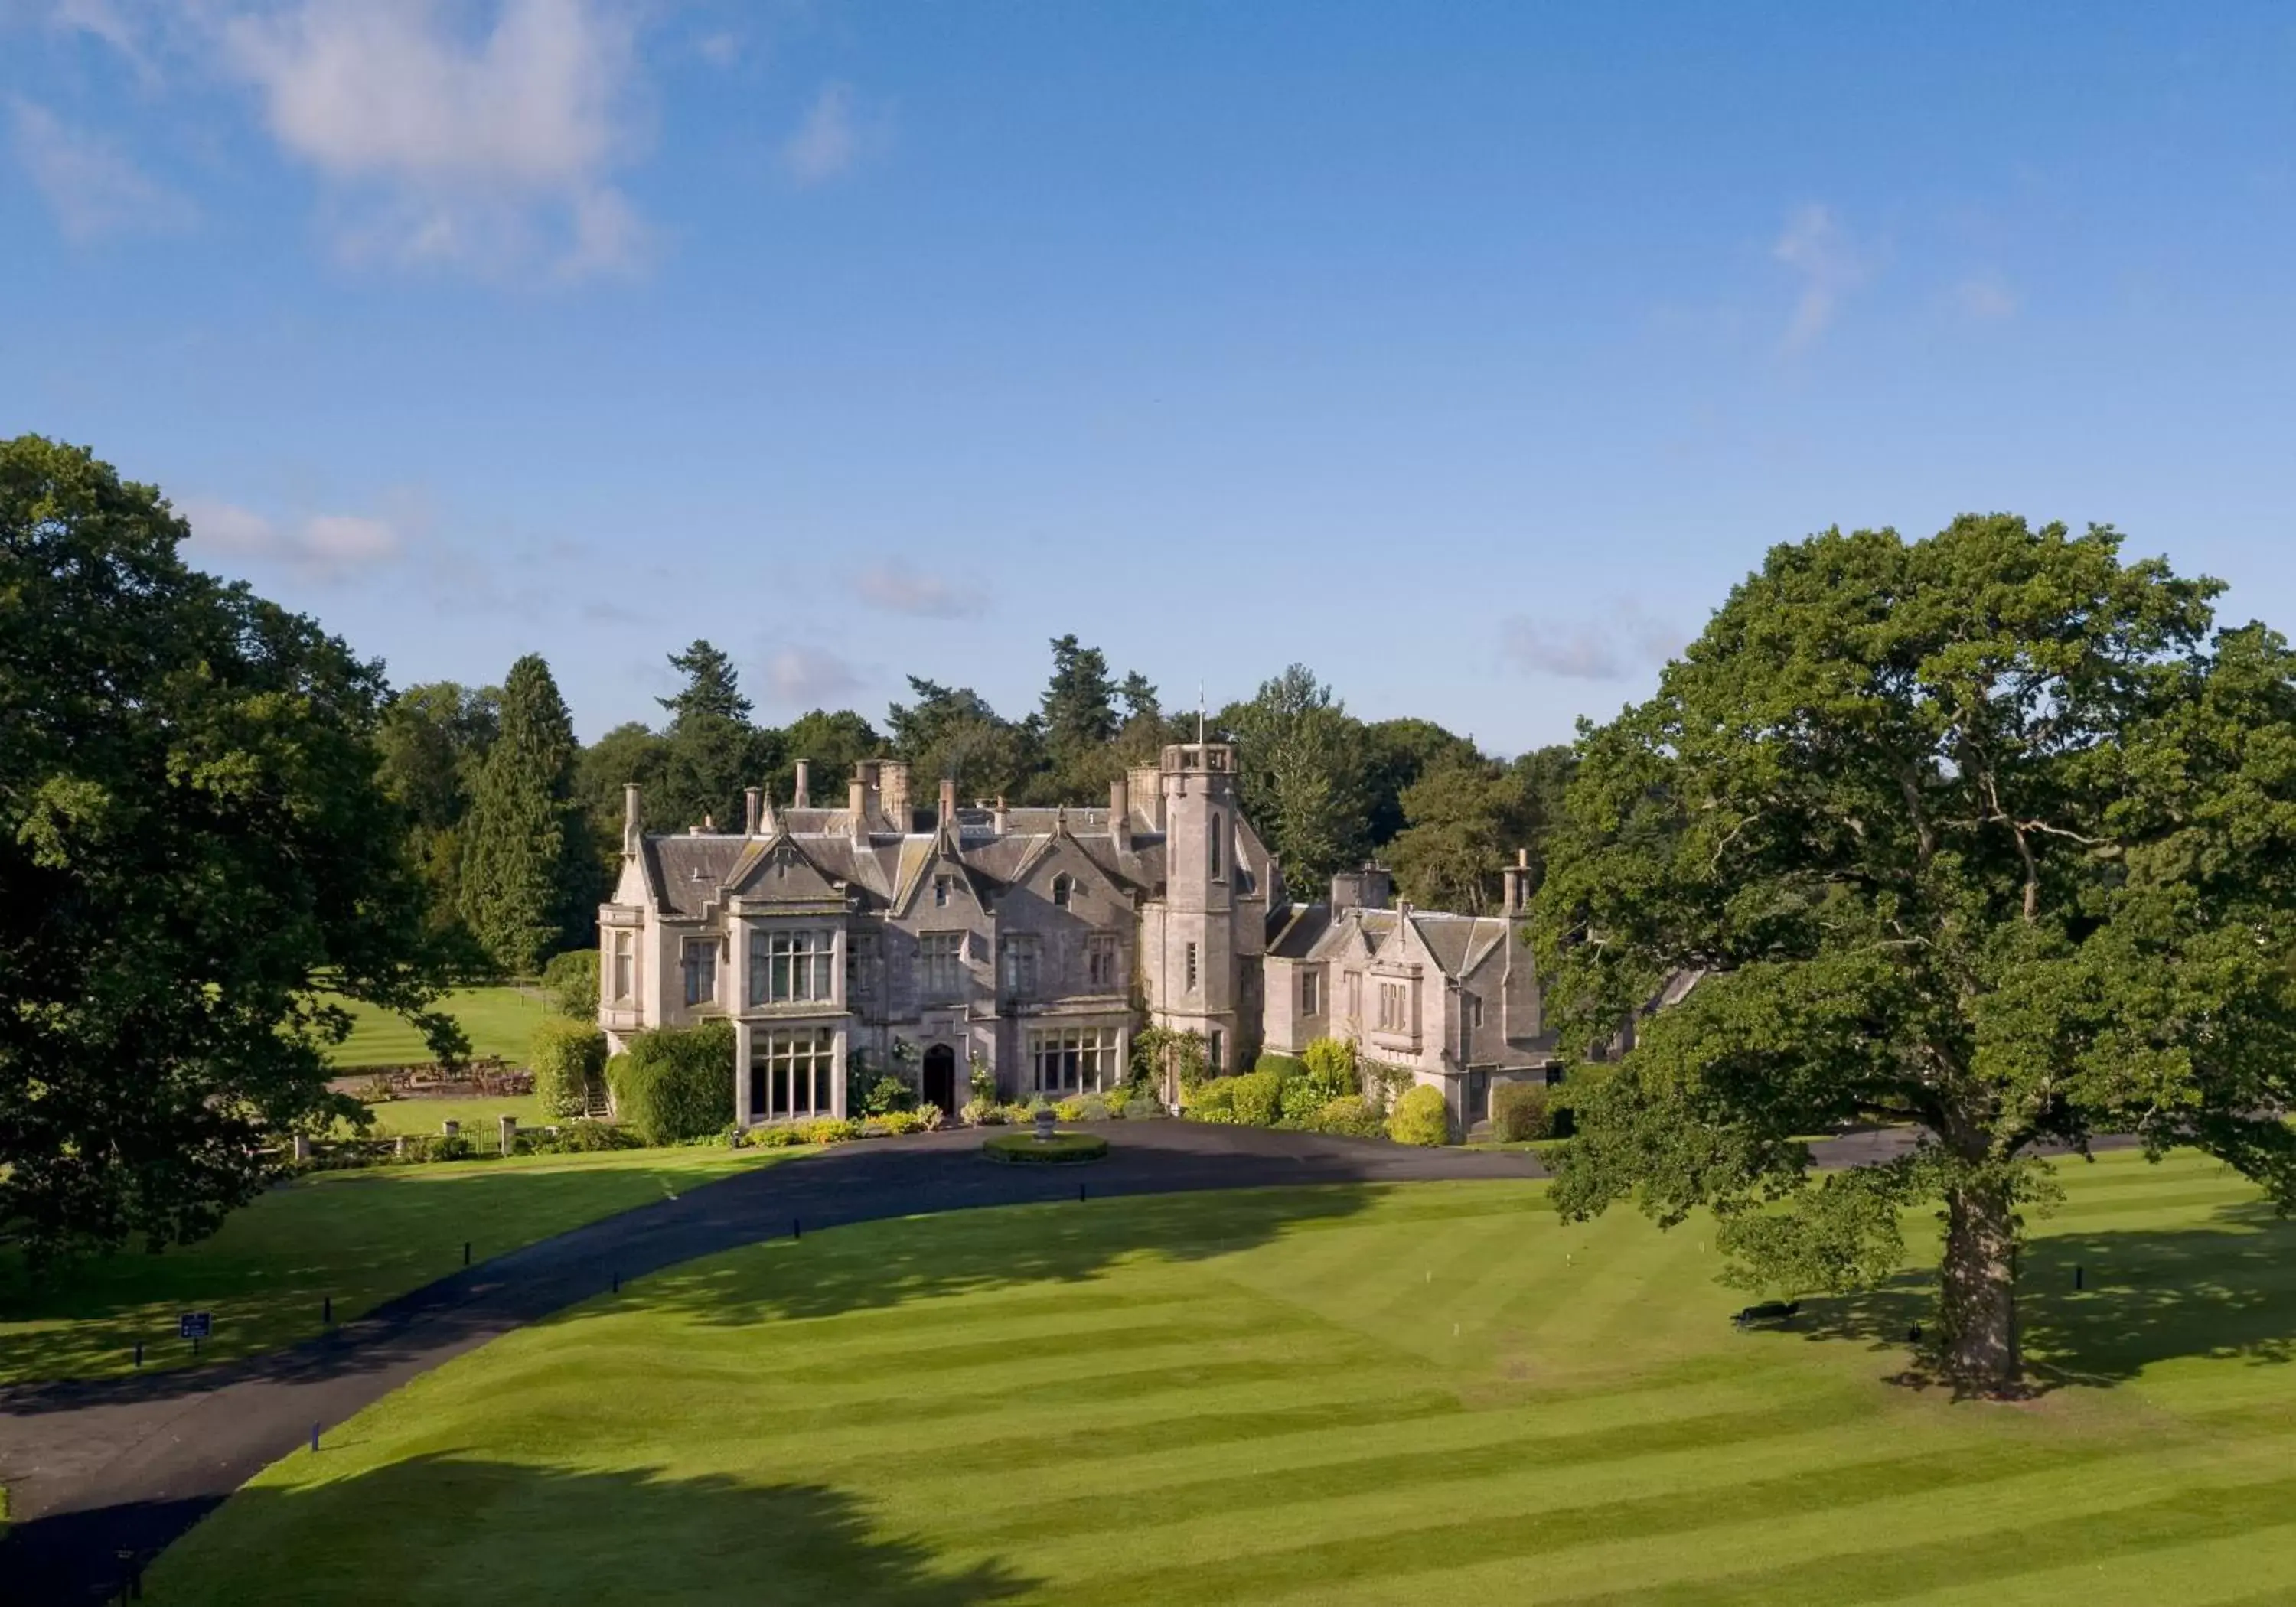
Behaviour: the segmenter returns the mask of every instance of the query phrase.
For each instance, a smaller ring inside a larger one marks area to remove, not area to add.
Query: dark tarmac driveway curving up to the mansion
[[[1414,1150],[1203,1123],[1125,1123],[1091,1166],[1001,1166],[980,1134],[850,1143],[528,1244],[269,1357],[0,1389],[14,1520],[0,1600],[99,1602],[257,1469],[496,1334],[693,1256],[879,1217],[1286,1182],[1538,1178],[1531,1155]]]

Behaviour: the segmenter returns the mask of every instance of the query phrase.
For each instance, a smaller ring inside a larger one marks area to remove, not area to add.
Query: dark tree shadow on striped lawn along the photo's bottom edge
[[[324,1453],[321,1453],[324,1458]],[[117,1517],[117,1515],[115,1515]],[[101,1522],[87,1513],[80,1522]],[[14,1568],[85,1547],[25,1524]],[[113,1522],[117,1529],[117,1520]],[[60,1545],[51,1545],[60,1543]],[[7,1552],[0,1552],[5,1556]],[[119,1579],[48,1573],[28,1600],[101,1600]],[[1033,1589],[1001,1561],[948,1566],[847,1492],[723,1474],[574,1472],[422,1455],[292,1490],[250,1488],[154,1563],[154,1602],[877,1602],[971,1607]]]

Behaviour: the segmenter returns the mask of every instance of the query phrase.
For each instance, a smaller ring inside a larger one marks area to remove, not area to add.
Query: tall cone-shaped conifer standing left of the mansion
[[[526,654],[503,682],[501,735],[478,771],[461,861],[461,918],[514,976],[537,973],[581,934],[579,905],[595,891],[576,753],[551,666]]]

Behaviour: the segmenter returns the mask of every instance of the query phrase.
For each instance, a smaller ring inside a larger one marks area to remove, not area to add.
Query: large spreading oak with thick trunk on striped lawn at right
[[[1775,549],[1582,732],[1534,939],[1589,1065],[1557,1205],[1711,1205],[1747,1286],[1853,1288],[1942,1205],[1933,1359],[2020,1384],[2037,1150],[2200,1146],[2296,1205],[2296,661],[2108,528]],[[1913,1123],[1818,1175],[1795,1134]]]

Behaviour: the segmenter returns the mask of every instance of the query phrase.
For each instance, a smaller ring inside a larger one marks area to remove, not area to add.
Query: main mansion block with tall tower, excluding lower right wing
[[[1235,810],[1226,744],[1176,744],[1104,808],[918,810],[907,767],[863,762],[843,806],[753,790],[744,829],[652,836],[627,794],[599,907],[599,1026],[730,1017],[742,1125],[845,1113],[845,1068],[914,1068],[953,1111],[969,1068],[1001,1097],[1125,1079],[1141,1022],[1258,1054],[1258,966],[1281,875]]]

